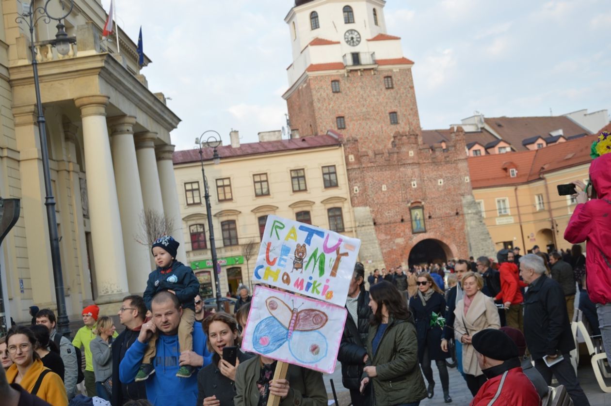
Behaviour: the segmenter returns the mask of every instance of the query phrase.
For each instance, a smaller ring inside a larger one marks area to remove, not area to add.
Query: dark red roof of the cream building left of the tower
[[[216,150],[222,160],[223,158],[271,154],[291,150],[307,150],[309,148],[331,147],[332,145],[340,144],[341,142],[337,137],[325,134],[324,136],[302,137],[290,140],[243,143],[238,148],[233,148],[231,145],[222,145],[216,148]],[[213,148],[204,148],[203,159],[205,161],[212,159],[212,154]],[[175,151],[172,159],[174,165],[199,162],[199,150]]]

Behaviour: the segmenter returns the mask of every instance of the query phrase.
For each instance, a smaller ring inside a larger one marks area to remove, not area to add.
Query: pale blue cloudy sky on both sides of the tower
[[[102,0],[109,9],[111,0]],[[209,129],[229,144],[285,125],[284,17],[292,0],[115,0],[119,26],[153,61],[141,71],[181,118],[177,150]],[[486,117],[611,110],[609,0],[387,0],[401,37],[423,129]]]

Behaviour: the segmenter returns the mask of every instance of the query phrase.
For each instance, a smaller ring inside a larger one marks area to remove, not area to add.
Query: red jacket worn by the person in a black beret
[[[487,380],[471,401],[471,406],[488,405],[496,396],[502,378],[503,374],[500,374]],[[535,386],[530,382],[529,377],[524,375],[522,367],[518,366],[507,371],[503,387],[493,405],[539,406],[540,402]]]

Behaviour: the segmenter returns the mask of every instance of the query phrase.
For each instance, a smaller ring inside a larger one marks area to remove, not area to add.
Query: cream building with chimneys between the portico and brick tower
[[[204,148],[205,174],[222,295],[251,287],[266,216],[301,222],[354,236],[343,148],[334,134],[281,140],[279,132],[260,134],[261,142]],[[202,297],[216,295],[210,234],[197,150],[174,153],[186,258],[200,280]]]

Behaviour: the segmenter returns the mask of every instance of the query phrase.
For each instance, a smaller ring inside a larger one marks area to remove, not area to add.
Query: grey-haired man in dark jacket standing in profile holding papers
[[[589,405],[570,361],[569,352],[575,349],[575,342],[566,313],[565,294],[558,282],[546,277],[545,272],[540,256],[528,254],[520,258],[520,276],[529,284],[524,297],[526,344],[535,360],[535,368],[548,386],[554,375],[561,385],[565,385],[574,404]],[[558,357],[563,359],[557,361]],[[553,361],[557,363],[547,366]]]

